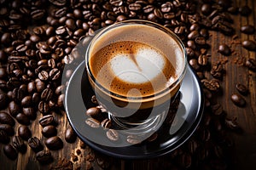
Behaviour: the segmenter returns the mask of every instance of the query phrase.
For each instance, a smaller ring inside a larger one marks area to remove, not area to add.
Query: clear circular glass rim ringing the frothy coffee
[[[113,92],[111,92],[110,90],[108,90],[107,88],[102,87],[102,85],[96,81],[96,77],[93,76],[92,72],[90,71],[90,65],[89,65],[89,54],[90,54],[90,48],[93,46],[93,44],[96,42],[98,37],[101,37],[104,33],[112,30],[113,28],[116,28],[118,26],[125,26],[125,25],[131,25],[131,24],[137,24],[137,25],[146,25],[146,26],[151,26],[154,28],[157,28],[160,31],[164,31],[166,34],[168,34],[170,37],[174,38],[176,40],[176,42],[178,43],[178,45],[180,46],[180,48],[182,49],[183,52],[183,68],[181,69],[182,71],[177,75],[177,78],[174,82],[172,82],[172,84],[166,88],[164,88],[163,90],[161,90],[160,92],[156,93],[156,94],[151,94],[148,96],[144,96],[144,97],[127,97],[124,95],[120,95],[120,94],[115,94]],[[171,31],[170,29],[166,28],[165,26],[161,26],[158,23],[152,22],[152,21],[148,21],[148,20],[124,20],[124,21],[119,21],[117,23],[114,23],[111,26],[107,26],[105,28],[102,28],[102,30],[100,30],[99,32],[96,32],[96,35],[91,39],[88,48],[86,49],[85,52],[85,69],[88,73],[88,75],[90,76],[90,78],[92,79],[93,83],[95,83],[95,85],[101,89],[101,91],[104,94],[108,94],[111,97],[113,97],[114,99],[130,99],[129,102],[136,102],[136,100],[150,100],[152,98],[154,99],[158,99],[158,97],[160,96],[164,96],[167,93],[170,93],[172,91],[172,88],[176,88],[177,85],[182,82],[183,77],[186,73],[186,68],[187,68],[187,52],[186,52],[186,48],[182,42],[182,40],[177,37],[177,35]]]

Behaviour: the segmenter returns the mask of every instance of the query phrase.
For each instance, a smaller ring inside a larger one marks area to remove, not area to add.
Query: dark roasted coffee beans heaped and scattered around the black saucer
[[[166,156],[166,161],[171,160],[170,167],[178,168],[230,166],[227,157],[232,157],[230,150],[234,144],[226,131],[236,131],[239,125],[236,118],[227,118],[215,99],[222,85],[224,63],[208,62],[214,57],[208,51],[209,31],[235,36],[233,18],[236,15],[247,17],[252,8],[233,6],[231,0],[2,0],[0,11],[0,143],[4,144],[3,152],[10,159],[15,160],[19,152],[25,152],[28,144],[37,153],[38,161],[49,162],[52,160],[49,150],[60,150],[64,138],[67,143],[76,140],[71,127],[67,128],[63,139],[57,136],[61,125],[55,121],[56,115],[65,113],[61,91],[66,84],[61,85],[61,75],[68,79],[73,73],[73,70],[63,72],[64,65],[73,64],[84,56],[73,53],[73,49],[97,29],[122,20],[142,19],[166,26],[182,39],[189,65],[201,79],[206,96],[200,126],[188,142]],[[251,35],[254,31],[254,26],[241,26],[244,34]],[[253,40],[242,40],[241,47],[256,51]],[[233,54],[228,44],[220,44],[212,50],[224,56]],[[246,59],[242,65],[244,69],[256,71],[255,59]],[[245,107],[246,100],[242,96],[248,94],[247,87],[238,84],[233,88],[238,93],[230,96],[231,101]],[[87,124],[110,126],[108,119],[95,120],[87,120]],[[38,139],[33,133],[32,122],[40,123],[44,139]],[[108,130],[106,135],[109,139],[118,138],[113,130]],[[154,138],[155,135],[150,139]],[[137,139],[129,137],[127,141],[135,143]],[[44,145],[48,149],[44,149]],[[106,167],[102,161],[97,162]]]

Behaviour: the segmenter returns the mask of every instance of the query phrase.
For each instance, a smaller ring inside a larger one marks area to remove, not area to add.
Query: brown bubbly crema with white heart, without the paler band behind
[[[100,48],[91,56],[90,68],[103,88],[126,97],[160,93],[177,78],[160,49],[135,41],[113,42]]]

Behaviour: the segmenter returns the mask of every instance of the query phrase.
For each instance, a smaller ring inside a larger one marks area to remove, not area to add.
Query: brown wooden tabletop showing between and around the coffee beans
[[[216,63],[218,59],[227,59],[227,62],[224,64],[224,79],[220,82],[221,93],[218,94],[217,102],[223,105],[224,112],[227,116],[231,118],[237,117],[237,122],[242,129],[241,133],[227,131],[227,135],[231,139],[234,139],[234,148],[232,149],[233,157],[232,161],[230,161],[233,166],[231,167],[234,169],[253,169],[253,167],[256,167],[256,73],[249,71],[245,66],[239,65],[238,62],[243,58],[256,59],[255,52],[249,52],[247,49],[241,47],[241,41],[247,39],[256,40],[256,34],[247,35],[240,31],[240,27],[244,25],[256,26],[256,11],[254,10],[256,9],[256,2],[254,0],[234,0],[233,4],[239,7],[248,5],[253,9],[252,14],[248,17],[241,16],[240,14],[232,15],[234,20],[232,26],[236,28],[237,37],[227,37],[220,32],[211,31],[211,37],[207,40],[207,43],[211,45],[211,49],[209,50],[211,54],[210,62]],[[228,57],[219,54],[218,45],[220,43],[230,45],[232,50],[235,50],[236,53]],[[209,77],[209,75],[207,76]],[[244,97],[247,101],[247,105],[244,108],[237,107],[230,100],[230,95],[236,92],[235,86],[237,82],[246,85],[250,92]],[[85,169],[86,163],[88,164],[89,161],[84,160],[88,159],[86,156],[89,153],[90,156],[96,156],[95,159],[92,158],[92,160],[90,160],[94,169],[102,168],[97,163],[101,158],[110,162],[109,169],[156,169],[158,167],[161,169],[172,169],[173,167],[172,163],[170,163],[172,161],[171,154],[154,159],[125,161],[119,158],[103,156],[101,153],[96,153],[96,151],[91,150],[88,146],[83,149],[81,148],[82,142],[80,139],[76,139],[73,144],[68,144],[64,139],[64,133],[67,127],[69,127],[67,116],[58,115],[58,121],[58,135],[64,142],[64,148],[52,151],[54,157],[52,163],[49,165],[40,165],[38,161],[36,161],[35,153],[29,147],[27,147],[26,154],[19,154],[15,161],[11,161],[4,156],[3,144],[0,144],[0,169],[49,169],[49,167],[56,167],[57,161],[61,159],[73,162],[74,169],[76,167]],[[37,136],[39,139],[44,139],[41,134],[42,127],[39,126],[38,119],[32,122],[29,127],[32,129],[34,136]],[[195,133],[197,132],[195,131]],[[78,156],[78,161],[73,161],[73,155],[77,155],[77,150],[81,150],[82,153]]]

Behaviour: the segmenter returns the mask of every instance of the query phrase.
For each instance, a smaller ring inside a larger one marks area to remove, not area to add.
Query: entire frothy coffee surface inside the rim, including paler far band
[[[182,48],[163,31],[146,25],[119,26],[97,39],[89,65],[96,81],[110,92],[146,97],[177,80],[182,55]]]

